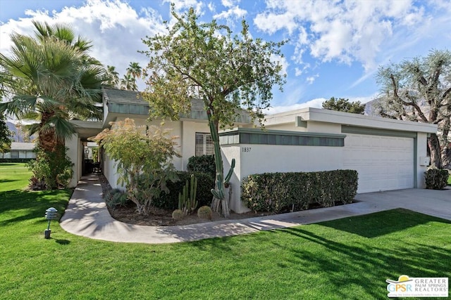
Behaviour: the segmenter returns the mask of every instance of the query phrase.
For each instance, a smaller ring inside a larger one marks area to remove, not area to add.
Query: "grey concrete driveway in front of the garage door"
[[[451,220],[451,187],[445,190],[409,188],[358,194],[357,201],[371,202],[393,208],[410,209],[422,214]]]

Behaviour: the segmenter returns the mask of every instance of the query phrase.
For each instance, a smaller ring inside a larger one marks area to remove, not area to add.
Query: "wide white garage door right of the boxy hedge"
[[[344,167],[359,172],[358,193],[414,187],[414,139],[347,133]]]

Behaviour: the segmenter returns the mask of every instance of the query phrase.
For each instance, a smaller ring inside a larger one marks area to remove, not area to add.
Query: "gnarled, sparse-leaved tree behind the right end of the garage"
[[[379,115],[394,119],[438,124],[428,140],[431,164],[450,164],[451,52],[431,51],[426,57],[380,67]]]

